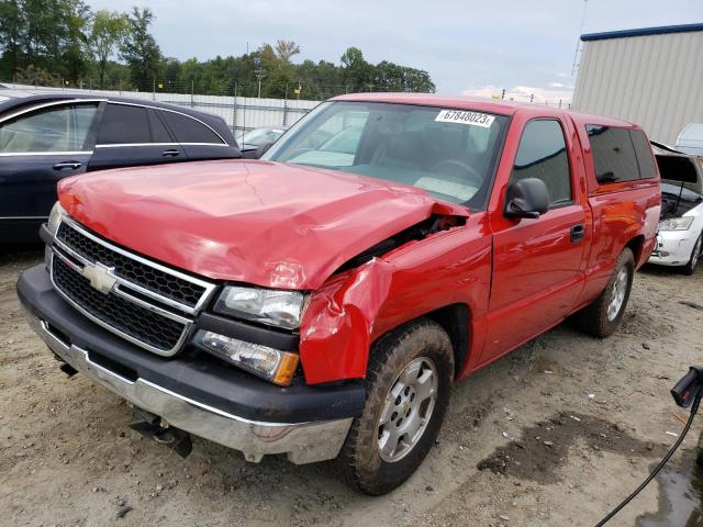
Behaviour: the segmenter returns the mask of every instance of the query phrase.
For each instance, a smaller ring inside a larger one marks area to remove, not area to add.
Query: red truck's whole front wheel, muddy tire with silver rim
[[[364,412],[337,458],[354,487],[381,495],[413,474],[437,438],[453,378],[451,343],[431,319],[406,324],[377,341]]]

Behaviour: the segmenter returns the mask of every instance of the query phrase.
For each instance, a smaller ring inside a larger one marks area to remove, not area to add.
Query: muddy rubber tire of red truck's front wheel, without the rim
[[[390,390],[414,359],[428,358],[436,367],[437,395],[429,421],[401,459],[384,461],[379,448],[379,419]],[[434,445],[449,404],[454,378],[454,352],[447,333],[428,318],[419,318],[384,335],[369,356],[366,404],[354,419],[337,463],[356,490],[381,495],[402,484],[420,467]]]

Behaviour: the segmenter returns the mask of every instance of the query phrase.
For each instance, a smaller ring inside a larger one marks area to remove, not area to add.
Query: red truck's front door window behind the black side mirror
[[[511,179],[542,179],[549,190],[549,204],[571,202],[571,171],[563,131],[558,121],[529,121],[520,138]]]

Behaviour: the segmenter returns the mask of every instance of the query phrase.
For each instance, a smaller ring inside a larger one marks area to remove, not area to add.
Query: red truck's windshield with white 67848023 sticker
[[[265,159],[371,176],[483,208],[507,117],[438,106],[328,102]]]

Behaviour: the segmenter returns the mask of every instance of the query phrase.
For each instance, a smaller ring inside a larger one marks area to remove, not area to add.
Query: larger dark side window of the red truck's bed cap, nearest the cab
[[[601,184],[639,179],[639,167],[635,157],[629,131],[615,126],[585,126],[593,154],[595,179]]]

